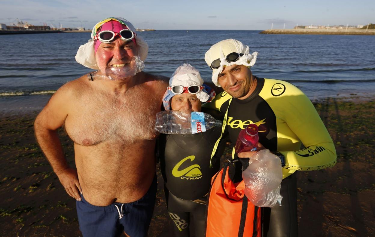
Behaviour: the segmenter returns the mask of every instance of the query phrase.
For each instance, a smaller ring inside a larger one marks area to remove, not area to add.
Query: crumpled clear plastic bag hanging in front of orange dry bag
[[[258,151],[249,160],[249,167],[242,172],[245,195],[257,207],[273,207],[282,196],[280,187],[282,169],[280,158],[269,150]]]

